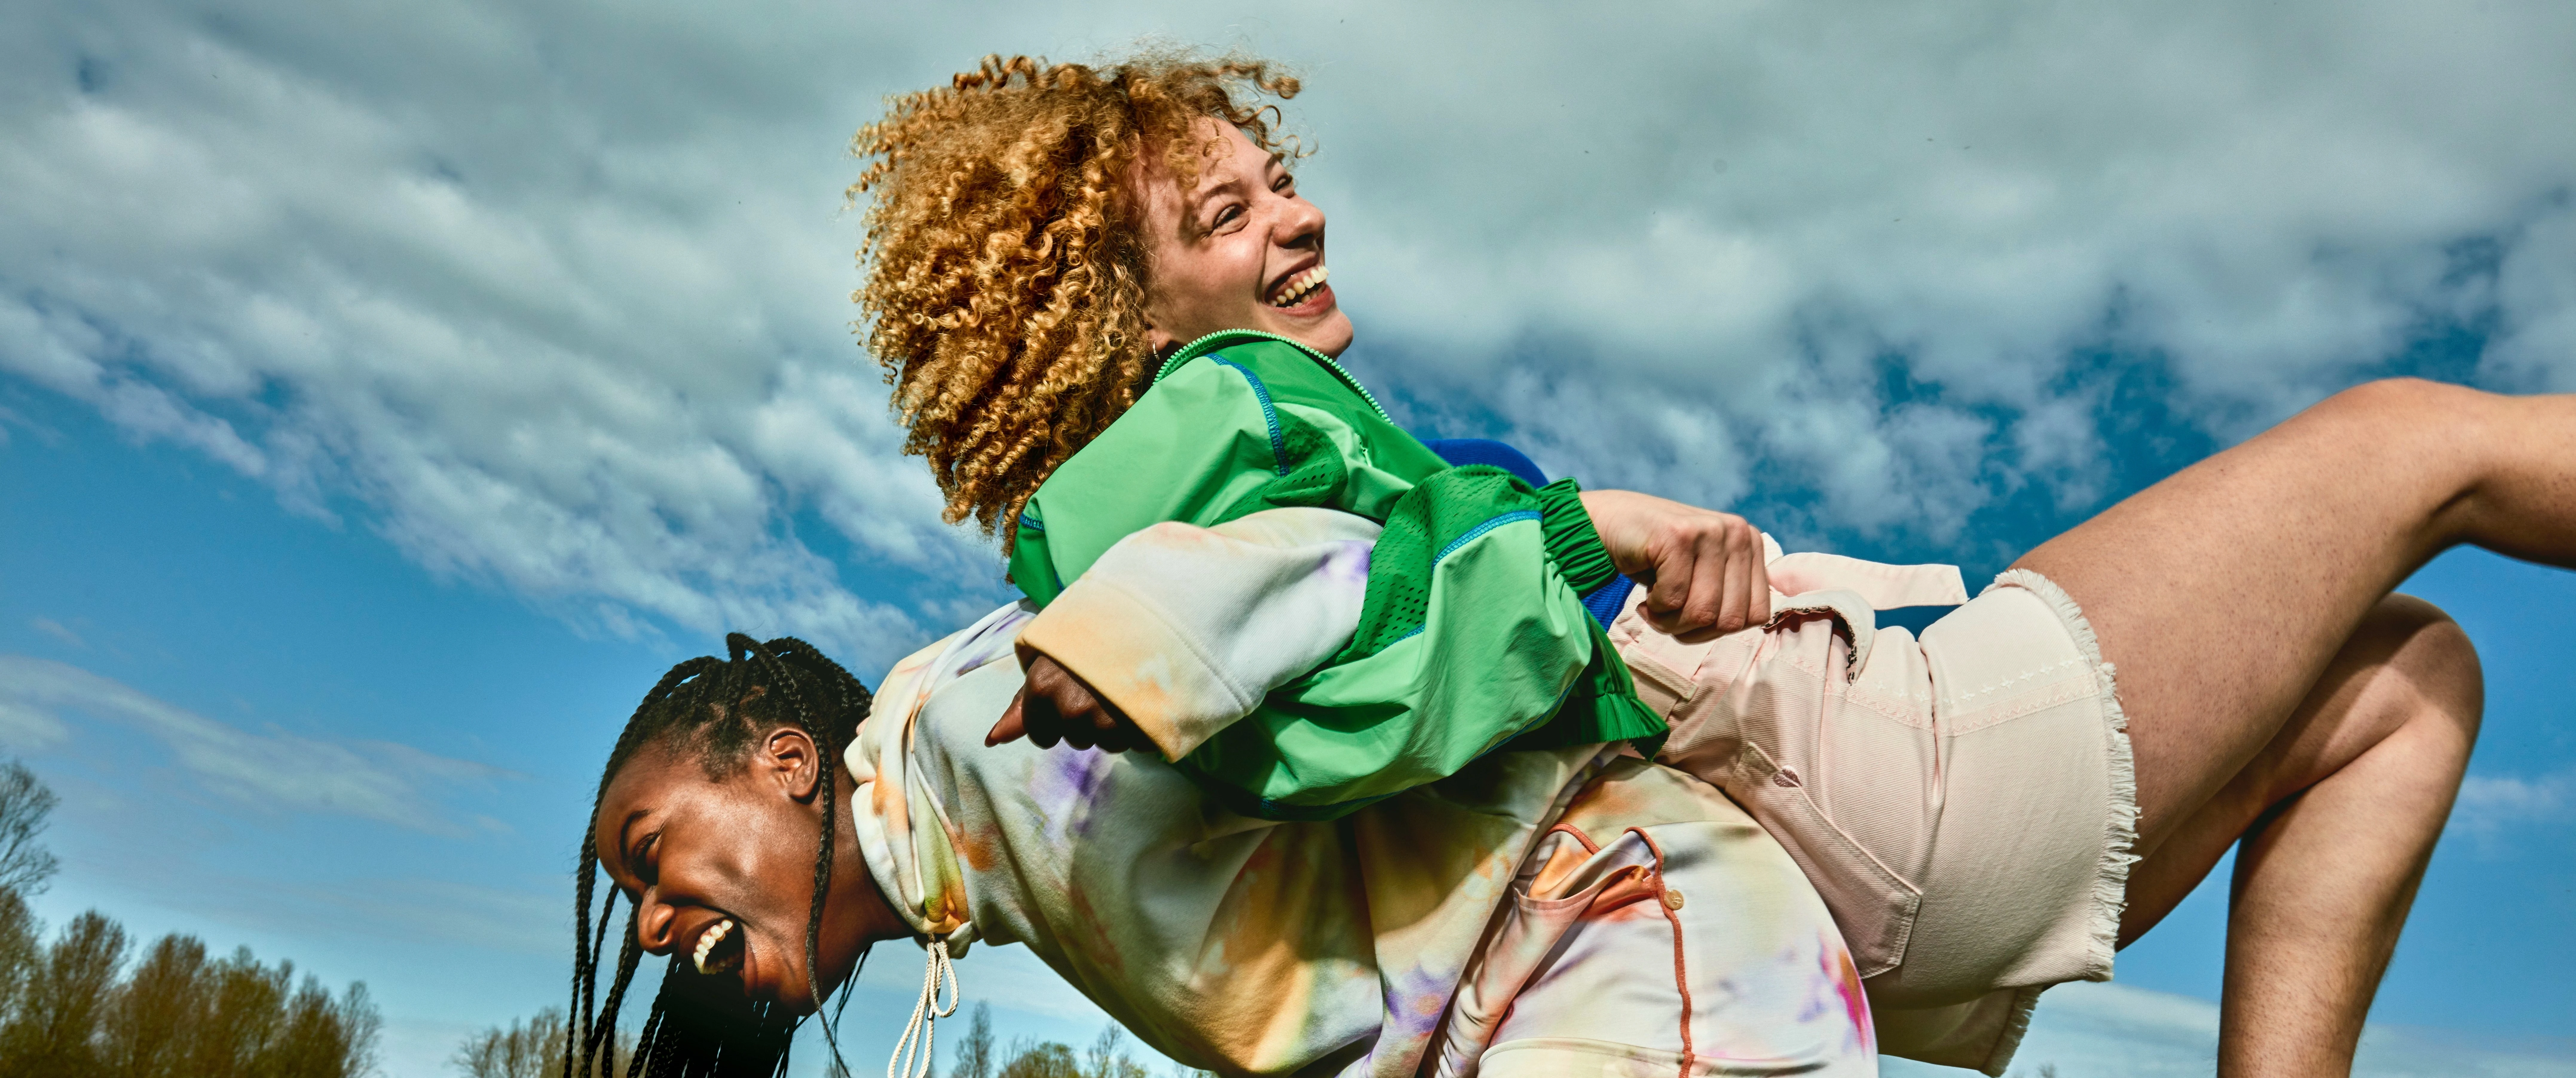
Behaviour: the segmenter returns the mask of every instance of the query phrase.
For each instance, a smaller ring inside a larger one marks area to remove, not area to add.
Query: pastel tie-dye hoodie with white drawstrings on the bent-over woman
[[[1814,890],[1710,787],[1571,746],[1497,751],[1340,821],[1249,818],[1146,754],[984,746],[1020,687],[1002,659],[1028,617],[997,610],[896,664],[845,756],[871,875],[948,955],[1025,944],[1188,1065],[1414,1075],[1463,980],[1507,1001],[1517,980],[1494,962],[1543,957],[1479,955],[1535,841],[1558,823],[1662,826],[1667,846],[1775,893],[1754,906],[1808,939],[1811,960],[1785,967],[1795,985],[1765,983],[1765,998],[1839,1001],[1852,1014],[1839,1037],[1868,1037]]]

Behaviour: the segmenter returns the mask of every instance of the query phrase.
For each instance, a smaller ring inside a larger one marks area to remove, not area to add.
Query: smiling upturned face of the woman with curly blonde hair
[[[1182,190],[1159,154],[1139,180],[1154,347],[1265,329],[1342,355],[1350,316],[1324,283],[1324,211],[1298,198],[1285,160],[1234,126],[1200,121],[1200,136],[1195,188]]]

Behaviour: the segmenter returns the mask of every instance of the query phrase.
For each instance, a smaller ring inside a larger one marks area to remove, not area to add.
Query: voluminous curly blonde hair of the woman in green
[[[1144,203],[1128,190],[1144,154],[1188,190],[1198,121],[1216,118],[1293,157],[1262,95],[1296,93],[1231,54],[984,57],[943,90],[889,98],[850,139],[871,162],[848,196],[876,196],[850,301],[948,522],[974,517],[1007,548],[1020,504],[1146,388]]]

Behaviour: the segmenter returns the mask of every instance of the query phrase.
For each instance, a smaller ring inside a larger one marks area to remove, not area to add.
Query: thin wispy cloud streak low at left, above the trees
[[[139,728],[160,738],[206,790],[265,810],[361,816],[453,834],[459,826],[430,800],[430,790],[515,777],[389,741],[250,733],[80,666],[0,656],[0,741],[26,749],[62,744],[70,738],[62,715]]]

